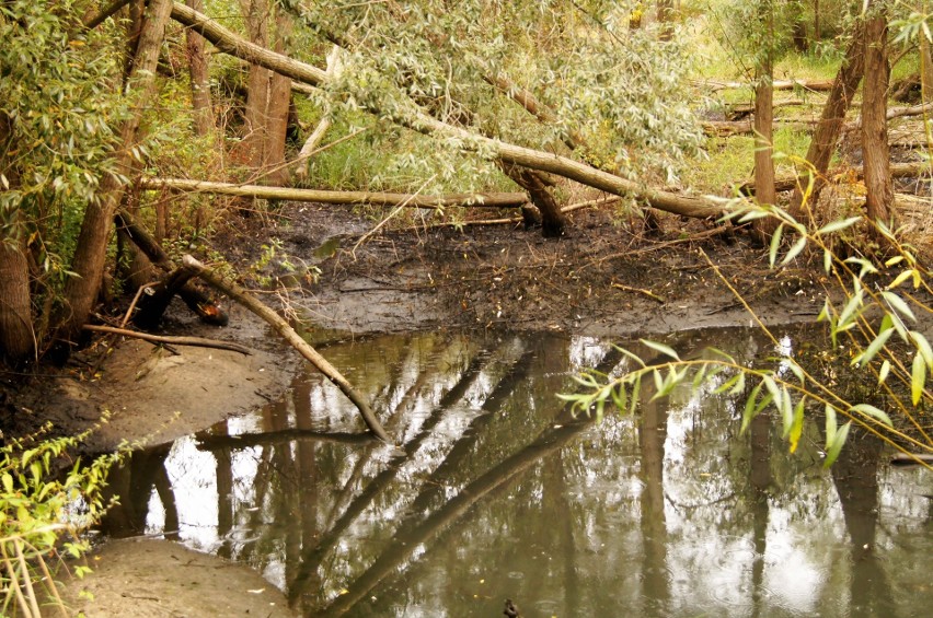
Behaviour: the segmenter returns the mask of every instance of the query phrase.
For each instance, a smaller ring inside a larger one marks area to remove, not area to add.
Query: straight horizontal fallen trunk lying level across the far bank
[[[518,208],[528,202],[522,193],[500,194],[453,194],[447,196],[419,196],[411,194],[390,194],[382,191],[324,191],[318,189],[295,189],[291,187],[268,187],[263,185],[234,185],[231,183],[210,183],[185,178],[143,178],[139,182],[143,189],[176,189],[243,196],[260,199],[281,199],[288,201],[313,201],[320,203],[376,206],[407,206],[411,208],[441,209],[463,206],[472,208]]]

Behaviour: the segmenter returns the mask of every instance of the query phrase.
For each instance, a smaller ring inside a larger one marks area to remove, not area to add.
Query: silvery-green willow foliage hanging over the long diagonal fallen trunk
[[[634,2],[285,4],[349,50],[322,102],[337,117],[379,109],[380,120],[391,124],[417,106],[535,148],[556,147],[576,132],[632,175],[670,176],[684,153],[701,145],[687,105],[688,54],[677,37],[661,43],[649,28],[630,32]],[[516,109],[484,80],[499,74],[532,92],[558,120],[542,127]],[[435,141],[434,154],[418,160],[429,161],[429,175],[440,179],[463,177],[463,166],[453,163],[461,145]],[[480,173],[485,165],[476,159],[469,167]]]

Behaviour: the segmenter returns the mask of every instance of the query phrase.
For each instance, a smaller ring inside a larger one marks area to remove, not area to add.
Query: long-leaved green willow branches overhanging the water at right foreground
[[[780,346],[752,312],[758,326],[780,351],[769,361],[771,366],[748,366],[719,350],[711,350],[712,359],[681,360],[669,347],[643,340],[643,345],[668,360],[646,364],[623,350],[635,361],[635,369],[612,378],[596,373],[583,375],[578,382],[586,389],[562,398],[571,401],[577,411],[601,416],[610,403],[620,410],[634,411],[645,384],[653,384],[653,399],[681,384],[692,383],[693,387],[707,384],[717,393],[748,393],[742,431],[764,409],[774,409],[792,453],[798,446],[807,412],[822,413],[827,466],[839,456],[853,423],[905,452],[933,451],[933,441],[921,422],[933,407],[933,390],[928,386],[928,376],[933,373],[933,347],[913,327],[917,313],[933,312],[929,302],[922,300],[922,294],[933,289],[930,271],[918,260],[914,249],[900,244],[884,224],[873,224],[862,217],[833,221],[809,231],[780,209],[741,202],[735,205],[727,219],[746,223],[765,217],[778,221],[769,247],[772,268],[802,259],[809,249],[821,255],[827,277],[836,282],[839,294],[827,295],[818,318],[829,327],[827,351],[832,353],[822,358],[833,359],[830,371],[817,371],[808,366],[813,364],[808,359]],[[892,257],[876,264],[866,257],[845,257],[833,252],[834,236],[855,226],[869,225],[876,226],[895,247]],[[837,298],[842,300],[832,300]],[[842,374],[851,374],[851,378],[842,380]],[[857,388],[849,388],[866,380],[876,385],[867,396]],[[839,417],[848,419],[842,427]]]

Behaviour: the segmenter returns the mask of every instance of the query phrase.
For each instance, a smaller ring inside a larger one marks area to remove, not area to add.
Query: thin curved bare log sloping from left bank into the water
[[[292,348],[298,350],[298,352],[308,359],[311,364],[313,364],[318,371],[324,374],[324,376],[330,380],[337,388],[343,392],[347,398],[353,401],[356,406],[359,413],[362,416],[362,420],[366,422],[369,430],[376,434],[377,438],[382,440],[383,442],[391,443],[389,435],[385,433],[385,430],[382,429],[382,424],[380,424],[379,420],[376,418],[376,415],[372,412],[372,408],[369,407],[369,404],[362,396],[356,392],[356,389],[350,385],[349,381],[337,371],[337,369],[332,365],[327,359],[322,357],[314,348],[311,347],[308,341],[301,338],[301,336],[295,331],[295,329],[276,312],[272,308],[263,304],[255,296],[250,294],[246,290],[230,281],[224,279],[210,268],[206,267],[204,264],[196,260],[194,257],[186,255],[182,258],[182,265],[185,268],[191,268],[194,270],[198,277],[200,277],[204,281],[212,285],[215,289],[223,292],[231,299],[235,300],[238,303],[266,320],[276,331],[281,335],[286,341],[288,341]]]

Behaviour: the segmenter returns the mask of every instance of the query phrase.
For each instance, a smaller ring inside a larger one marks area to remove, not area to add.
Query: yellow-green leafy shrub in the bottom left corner
[[[122,448],[87,465],[78,459],[70,470],[60,470],[68,452],[88,434],[45,438],[49,429],[0,447],[0,582],[4,591],[0,614],[4,616],[13,608],[24,616],[41,616],[38,603],[46,597],[61,606],[50,559],[61,551],[78,558],[89,549],[82,533],[107,509],[102,494],[107,474],[128,452]]]

